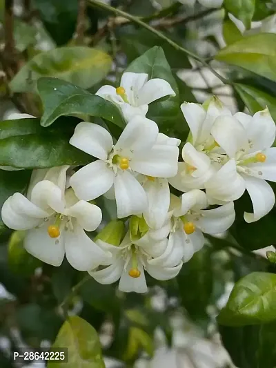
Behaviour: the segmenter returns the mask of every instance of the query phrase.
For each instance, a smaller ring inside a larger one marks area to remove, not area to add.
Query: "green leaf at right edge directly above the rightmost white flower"
[[[235,89],[246,104],[251,114],[257,113],[268,107],[271,116],[276,122],[276,98],[255,87],[246,86],[246,84],[235,84]]]

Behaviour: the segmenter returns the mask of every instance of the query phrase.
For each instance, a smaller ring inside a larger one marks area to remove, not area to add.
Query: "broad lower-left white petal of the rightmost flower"
[[[242,197],[246,189],[244,179],[237,173],[234,159],[230,159],[205,184],[206,195],[224,202]]]

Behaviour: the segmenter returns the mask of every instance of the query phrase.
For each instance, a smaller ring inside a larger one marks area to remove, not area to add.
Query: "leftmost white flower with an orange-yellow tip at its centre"
[[[72,188],[64,193],[67,168],[50,169],[53,174],[50,177],[59,185],[50,180],[38,182],[32,188],[30,200],[14,193],[3,204],[2,220],[10,229],[26,230],[24,246],[34,257],[59,266],[66,254],[72,267],[88,271],[103,264],[107,257],[83,230],[97,229],[101,209],[77,200]]]

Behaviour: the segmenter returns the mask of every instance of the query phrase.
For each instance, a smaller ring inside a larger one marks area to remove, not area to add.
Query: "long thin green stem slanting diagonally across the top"
[[[201,64],[203,64],[204,66],[206,66],[224,84],[231,84],[230,81],[228,81],[224,77],[221,77],[221,75],[219,75],[215,70],[213,70],[213,68],[204,59],[202,59],[201,57],[199,57],[198,55],[196,55],[194,52],[192,52],[190,50],[187,50],[186,48],[184,48],[182,46],[179,46],[177,43],[175,43],[174,41],[172,41],[171,39],[169,39],[168,37],[166,37],[163,33],[159,32],[159,30],[155,30],[155,28],[152,28],[151,26],[149,26],[144,21],[141,21],[141,19],[139,19],[138,17],[135,17],[135,16],[133,16],[131,14],[128,14],[127,12],[124,12],[123,10],[119,10],[117,8],[113,8],[112,6],[109,6],[106,3],[100,3],[97,0],[88,0],[88,4],[90,6],[97,6],[97,7],[101,8],[101,9],[107,10],[108,12],[113,12],[114,14],[117,14],[117,15],[119,15],[121,17],[124,17],[124,18],[128,19],[129,21],[132,21],[133,23],[138,24],[139,26],[141,26],[143,28],[146,28],[146,30],[149,30],[150,32],[152,32],[154,35],[156,35],[160,39],[164,39],[164,41],[168,42],[170,44],[170,46],[172,46],[176,50],[178,50],[180,52],[184,52],[186,55],[188,55],[190,57],[193,57],[193,59],[199,61]]]

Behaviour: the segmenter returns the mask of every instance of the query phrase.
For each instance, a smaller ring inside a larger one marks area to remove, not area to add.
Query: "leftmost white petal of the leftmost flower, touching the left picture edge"
[[[4,202],[1,217],[10,229],[28,230],[40,224],[43,217],[48,217],[48,213],[32,204],[21,193],[14,193]]]

